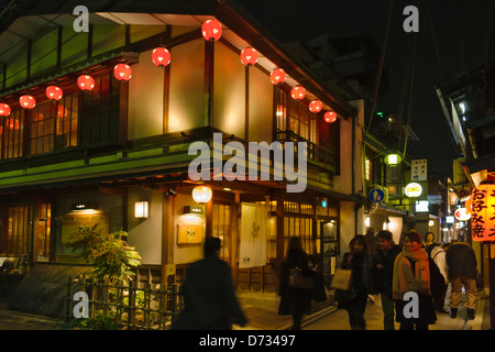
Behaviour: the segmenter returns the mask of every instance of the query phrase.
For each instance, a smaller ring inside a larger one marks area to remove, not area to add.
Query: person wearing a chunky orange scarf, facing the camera
[[[419,317],[407,318],[404,308],[409,300],[404,300],[408,292],[418,294]],[[404,238],[403,251],[394,263],[392,295],[396,302],[396,321],[400,330],[428,330],[428,324],[437,321],[433,300],[431,297],[430,261],[425,249],[421,248],[419,233],[407,233]]]

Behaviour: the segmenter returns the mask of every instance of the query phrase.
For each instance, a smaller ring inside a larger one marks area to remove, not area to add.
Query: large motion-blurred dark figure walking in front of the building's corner
[[[235,297],[229,265],[219,258],[220,239],[205,240],[205,258],[186,270],[184,309],[173,330],[230,330],[243,327],[245,318]]]

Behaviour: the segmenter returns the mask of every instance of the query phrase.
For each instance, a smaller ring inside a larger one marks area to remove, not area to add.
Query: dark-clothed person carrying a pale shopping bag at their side
[[[338,308],[348,311],[352,330],[365,330],[364,310],[366,309],[367,294],[373,292],[371,278],[373,257],[364,235],[358,234],[351,240],[349,252],[344,253],[340,266],[351,270],[352,276],[350,289],[339,292],[336,297]]]

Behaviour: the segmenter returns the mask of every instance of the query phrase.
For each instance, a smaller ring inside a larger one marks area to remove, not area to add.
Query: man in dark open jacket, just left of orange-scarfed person
[[[394,300],[392,299],[392,277],[394,262],[400,248],[394,243],[392,232],[380,231],[377,234],[377,248],[374,253],[373,285],[374,292],[382,297],[383,324],[385,330],[395,330]]]

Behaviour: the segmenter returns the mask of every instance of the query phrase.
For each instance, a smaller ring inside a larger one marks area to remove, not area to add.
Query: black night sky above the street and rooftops
[[[405,107],[407,121],[410,101],[410,127],[420,141],[408,144],[407,151],[414,158],[428,158],[429,170],[442,176],[452,176],[452,160],[462,154],[449,136],[435,87],[484,63],[490,1],[493,0],[394,1],[386,51],[389,88],[377,102],[377,110],[387,116]],[[328,32],[330,38],[373,35],[383,47],[389,13],[388,0],[239,2],[283,43]],[[403,29],[407,6],[419,10],[419,33],[406,33]],[[492,29],[491,57],[495,55],[494,32]],[[413,61],[415,36],[417,51]],[[408,63],[413,62],[415,75],[407,76],[405,73],[411,67]],[[400,105],[404,84],[413,87],[413,99],[408,88],[408,98]]]

